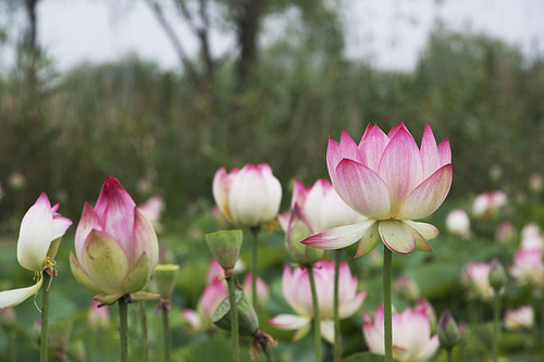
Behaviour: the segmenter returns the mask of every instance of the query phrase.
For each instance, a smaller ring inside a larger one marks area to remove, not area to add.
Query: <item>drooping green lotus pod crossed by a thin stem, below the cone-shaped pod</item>
[[[252,336],[259,329],[259,319],[257,319],[254,305],[251,305],[248,296],[243,290],[236,289],[235,298],[238,309],[238,334],[240,336]],[[231,330],[231,302],[228,298],[219,304],[211,321],[221,329]]]

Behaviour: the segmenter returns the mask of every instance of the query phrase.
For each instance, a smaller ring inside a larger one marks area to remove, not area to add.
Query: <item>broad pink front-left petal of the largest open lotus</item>
[[[338,196],[359,214],[385,219],[390,214],[390,191],[384,180],[362,164],[344,159],[336,167]]]

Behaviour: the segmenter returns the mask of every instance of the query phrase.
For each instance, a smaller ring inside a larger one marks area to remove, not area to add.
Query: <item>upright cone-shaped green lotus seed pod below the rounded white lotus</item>
[[[234,275],[234,266],[242,248],[242,230],[222,230],[206,235],[208,248],[225,271],[225,277]]]

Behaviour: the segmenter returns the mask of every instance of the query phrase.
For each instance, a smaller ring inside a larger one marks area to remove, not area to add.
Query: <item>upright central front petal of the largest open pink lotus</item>
[[[379,175],[390,191],[390,215],[396,217],[406,197],[421,183],[423,175],[418,145],[404,128],[395,134],[383,151]]]

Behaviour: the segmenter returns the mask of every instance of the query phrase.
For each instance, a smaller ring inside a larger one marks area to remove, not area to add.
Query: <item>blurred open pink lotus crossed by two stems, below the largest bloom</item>
[[[334,261],[320,261],[314,264],[316,288],[321,316],[321,336],[329,342],[334,342]],[[354,315],[367,297],[367,290],[357,292],[357,277],[351,276],[346,262],[339,267],[338,313],[344,320]],[[313,303],[311,299],[310,279],[306,269],[296,267],[293,273],[287,264],[282,277],[283,296],[297,314],[280,314],[269,321],[269,324],[280,329],[298,329],[293,340],[302,338],[313,320]]]

